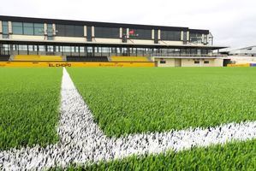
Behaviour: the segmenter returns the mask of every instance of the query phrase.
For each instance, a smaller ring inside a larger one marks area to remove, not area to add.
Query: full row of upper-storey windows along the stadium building
[[[92,28],[88,27],[87,36],[92,36]],[[44,35],[44,24],[42,23],[27,23],[27,22],[12,22],[12,30],[14,34],[20,35]],[[3,34],[8,34],[9,27],[8,22],[3,21]],[[84,27],[73,25],[56,25],[57,36],[62,37],[83,37]],[[47,25],[47,33],[52,36],[53,28],[52,24]],[[129,38],[132,39],[152,39],[152,30],[146,29],[129,29]],[[155,34],[158,35],[158,31],[155,30]],[[94,36],[96,38],[120,38],[120,29],[114,27],[95,27]],[[161,31],[162,40],[180,41],[181,31]],[[126,28],[122,29],[122,37],[127,37]],[[155,37],[158,38],[158,37]],[[184,32],[183,39],[187,39],[187,32]],[[191,33],[190,41],[201,43],[202,34]]]

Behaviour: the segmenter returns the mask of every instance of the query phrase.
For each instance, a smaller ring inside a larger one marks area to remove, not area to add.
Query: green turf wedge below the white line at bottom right
[[[87,167],[70,166],[68,170],[255,170],[255,147],[254,139],[157,156],[132,156]]]

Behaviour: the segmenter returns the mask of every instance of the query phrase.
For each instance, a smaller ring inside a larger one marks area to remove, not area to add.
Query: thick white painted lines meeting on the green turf
[[[41,148],[0,151],[0,168],[6,170],[67,167],[70,163],[92,163],[131,155],[158,154],[167,150],[206,147],[231,140],[256,138],[256,121],[229,123],[208,129],[190,128],[167,133],[141,133],[107,138],[93,122],[92,113],[63,68],[61,118],[58,144]]]

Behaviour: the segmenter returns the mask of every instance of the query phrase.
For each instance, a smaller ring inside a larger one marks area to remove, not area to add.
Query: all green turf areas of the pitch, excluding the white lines
[[[92,112],[93,122],[108,139],[256,121],[254,68],[67,68],[67,71]],[[1,151],[33,148],[37,144],[46,147],[60,141],[57,127],[62,76],[62,68],[0,68]],[[90,164],[70,160],[68,169],[253,170],[255,143],[255,139],[234,140]]]

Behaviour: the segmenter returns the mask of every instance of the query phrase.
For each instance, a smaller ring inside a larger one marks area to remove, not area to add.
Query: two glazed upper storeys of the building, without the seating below
[[[212,56],[209,30],[0,16],[0,55]]]

